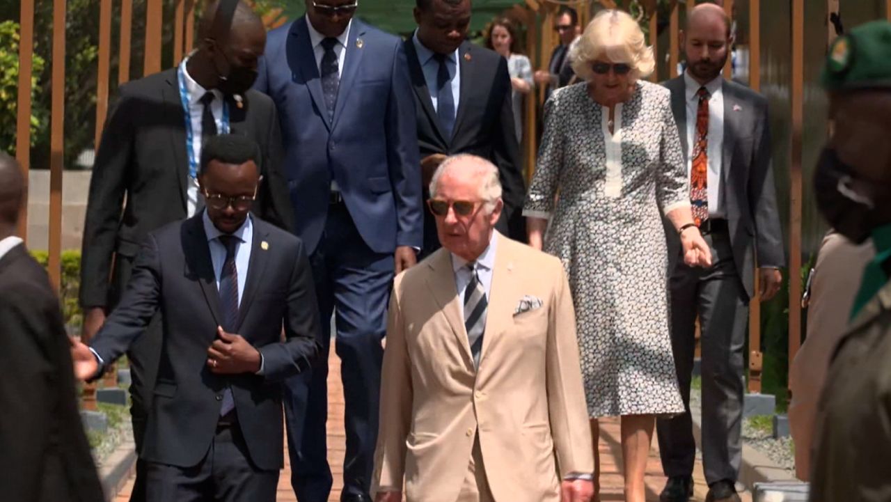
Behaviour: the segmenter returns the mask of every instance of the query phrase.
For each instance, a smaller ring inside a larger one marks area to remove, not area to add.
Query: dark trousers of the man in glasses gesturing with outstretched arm
[[[238,424],[218,428],[208,454],[193,467],[146,463],[149,502],[275,502],[278,471],[250,461]]]

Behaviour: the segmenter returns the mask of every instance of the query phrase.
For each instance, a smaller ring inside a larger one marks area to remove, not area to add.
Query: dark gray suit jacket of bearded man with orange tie
[[[665,86],[671,90],[674,121],[686,155],[687,106],[683,75],[668,80]],[[723,83],[722,91],[724,135],[721,177],[724,203],[733,260],[742,284],[751,297],[755,292],[756,259],[758,267],[785,265],[773,184],[767,99],[746,86],[727,80]],[[674,270],[681,242],[673,229],[669,228],[666,234],[669,270]]]

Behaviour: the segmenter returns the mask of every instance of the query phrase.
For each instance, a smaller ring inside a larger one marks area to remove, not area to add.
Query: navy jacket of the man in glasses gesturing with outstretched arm
[[[319,351],[315,341],[321,327],[307,252],[294,235],[254,218],[248,270],[239,276],[245,283],[235,332],[263,355],[264,374],[214,374],[206,364],[207,350],[223,317],[202,215],[148,235],[127,291],[90,345],[108,364],[161,311],[164,338],[141,457],[198,465],[214,439],[229,387],[250,459],[260,469],[278,470],[282,380],[307,369]]]

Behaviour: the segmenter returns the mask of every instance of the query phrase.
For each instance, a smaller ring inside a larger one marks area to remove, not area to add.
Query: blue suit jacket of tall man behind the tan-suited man
[[[331,121],[305,17],[269,32],[254,86],[278,108],[297,235],[310,254],[322,236],[332,178],[372,251],[421,247],[421,164],[398,38],[352,21]]]

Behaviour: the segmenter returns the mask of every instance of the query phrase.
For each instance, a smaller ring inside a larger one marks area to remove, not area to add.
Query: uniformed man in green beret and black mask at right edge
[[[830,364],[814,435],[811,500],[891,498],[891,23],[839,37],[822,76],[835,135],[814,177],[817,204],[876,256]]]

